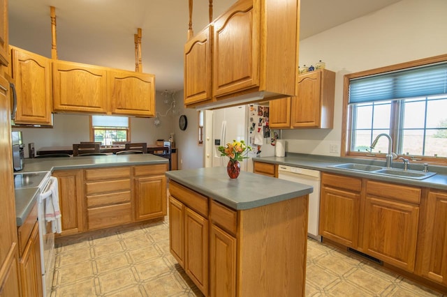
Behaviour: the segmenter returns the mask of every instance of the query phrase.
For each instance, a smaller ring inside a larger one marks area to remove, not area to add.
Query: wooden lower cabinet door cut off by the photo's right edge
[[[447,287],[447,192],[430,190],[424,214],[422,275]]]

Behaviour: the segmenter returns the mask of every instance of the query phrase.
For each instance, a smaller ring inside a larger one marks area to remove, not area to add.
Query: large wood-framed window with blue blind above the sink
[[[344,155],[447,164],[447,55],[345,76]]]

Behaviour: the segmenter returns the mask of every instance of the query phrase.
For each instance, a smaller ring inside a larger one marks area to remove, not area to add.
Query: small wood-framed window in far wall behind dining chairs
[[[91,116],[91,139],[110,146],[113,142],[129,142],[130,123],[126,116]]]

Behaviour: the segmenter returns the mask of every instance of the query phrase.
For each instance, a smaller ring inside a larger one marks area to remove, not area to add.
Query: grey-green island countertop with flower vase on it
[[[166,176],[235,210],[273,204],[308,195],[314,190],[310,185],[251,172],[241,172],[238,178],[231,179],[226,167],[177,170],[166,172]]]

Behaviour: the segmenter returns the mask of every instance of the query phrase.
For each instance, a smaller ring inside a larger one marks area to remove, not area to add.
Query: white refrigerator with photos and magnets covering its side
[[[258,109],[260,112],[258,112]],[[219,146],[226,146],[228,142],[233,140],[244,140],[246,144],[253,148],[249,151],[247,159],[240,162],[241,169],[248,172],[253,172],[253,161],[251,158],[258,156],[273,156],[274,146],[270,144],[270,132],[268,130],[268,112],[263,114],[261,109],[268,110],[268,107],[259,107],[259,105],[240,105],[235,107],[226,107],[223,109],[213,110],[211,114],[212,135],[207,135],[207,145],[210,148],[205,148],[211,155],[212,167],[226,167],[228,164],[228,157],[221,156],[218,148]],[[267,127],[267,128],[265,128]],[[267,133],[267,134],[266,134]]]

